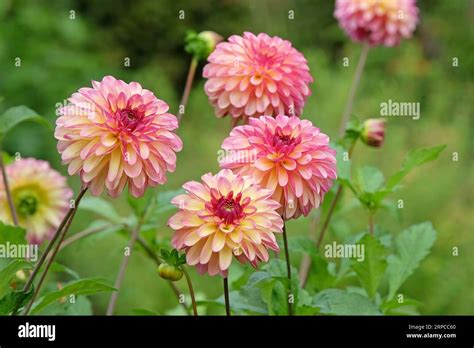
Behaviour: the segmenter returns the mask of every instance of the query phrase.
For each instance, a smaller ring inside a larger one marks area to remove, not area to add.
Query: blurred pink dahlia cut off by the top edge
[[[336,0],[334,16],[352,40],[396,46],[418,23],[416,0]]]

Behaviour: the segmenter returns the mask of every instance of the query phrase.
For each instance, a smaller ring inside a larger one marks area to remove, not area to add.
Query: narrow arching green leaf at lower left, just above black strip
[[[81,279],[67,284],[61,290],[50,292],[43,296],[37,304],[33,307],[31,314],[40,312],[43,308],[49,306],[62,297],[74,294],[79,295],[93,295],[100,292],[116,291],[114,287],[106,284],[101,279]]]

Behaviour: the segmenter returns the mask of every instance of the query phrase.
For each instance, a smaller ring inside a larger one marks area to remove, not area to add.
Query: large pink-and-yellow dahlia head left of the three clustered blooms
[[[60,110],[55,137],[70,175],[79,174],[93,195],[118,196],[128,184],[134,197],[166,182],[176,168],[181,139],[168,105],[137,82],[112,76],[81,88]]]

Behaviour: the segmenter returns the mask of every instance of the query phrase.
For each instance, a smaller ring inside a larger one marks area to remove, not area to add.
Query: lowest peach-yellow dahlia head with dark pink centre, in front
[[[274,233],[282,232],[283,220],[272,191],[230,170],[201,179],[183,185],[187,193],[173,198],[179,211],[168,221],[173,247],[185,250],[189,265],[227,277],[233,257],[256,268],[268,261],[268,249],[279,251]]]

